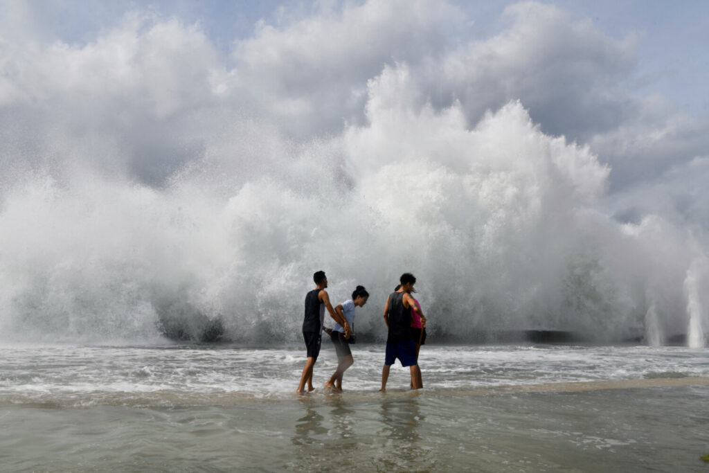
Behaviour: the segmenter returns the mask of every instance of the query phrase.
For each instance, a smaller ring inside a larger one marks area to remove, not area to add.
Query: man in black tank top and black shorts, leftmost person
[[[308,350],[308,360],[303,367],[301,374],[301,382],[298,384],[296,393],[303,394],[306,384],[308,384],[308,392],[313,391],[313,367],[320,355],[320,340],[323,330],[330,333],[332,330],[323,326],[325,318],[325,308],[328,309],[330,316],[335,318],[335,309],[330,304],[330,296],[325,288],[328,287],[328,278],[325,272],[318,271],[313,274],[313,281],[316,284],[316,289],[309,291],[306,294],[306,311],[303,318],[303,339],[306,341],[306,350]]]

